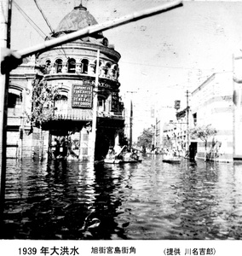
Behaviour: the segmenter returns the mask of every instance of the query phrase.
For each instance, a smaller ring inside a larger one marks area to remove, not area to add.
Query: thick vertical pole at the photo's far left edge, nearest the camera
[[[10,28],[12,16],[12,0],[2,1],[1,15],[1,48],[10,48]],[[0,220],[3,217],[3,206],[5,201],[6,182],[6,149],[7,149],[7,119],[8,119],[8,97],[9,97],[9,73],[1,75],[0,93],[0,147],[1,147],[1,185],[0,185]]]

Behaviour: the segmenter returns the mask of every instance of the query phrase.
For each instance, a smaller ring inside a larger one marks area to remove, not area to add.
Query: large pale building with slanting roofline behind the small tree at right
[[[214,73],[192,92],[191,115],[193,125],[216,128],[207,148],[211,160],[233,161],[233,77],[232,73]],[[193,141],[197,157],[204,158],[205,143]]]

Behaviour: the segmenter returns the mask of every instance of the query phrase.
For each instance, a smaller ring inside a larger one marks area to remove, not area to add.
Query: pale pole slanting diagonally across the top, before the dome
[[[49,49],[49,48],[58,46],[60,44],[66,44],[70,41],[76,40],[81,37],[85,37],[92,33],[106,31],[110,28],[113,28],[116,26],[121,26],[121,25],[130,23],[132,21],[141,20],[141,19],[153,16],[153,15],[158,15],[158,14],[170,11],[171,9],[176,9],[177,7],[181,7],[181,6],[182,6],[182,1],[165,3],[165,4],[155,7],[155,8],[145,9],[140,12],[135,12],[131,15],[125,15],[116,20],[109,20],[109,21],[103,22],[101,24],[85,27],[82,30],[78,30],[77,32],[72,32],[70,34],[66,34],[65,36],[62,36],[60,38],[47,40],[43,44],[37,44],[37,45],[34,45],[34,46],[26,48],[26,49],[20,49],[17,51],[17,53],[20,54],[22,57],[26,57],[28,55],[33,55],[43,49]]]

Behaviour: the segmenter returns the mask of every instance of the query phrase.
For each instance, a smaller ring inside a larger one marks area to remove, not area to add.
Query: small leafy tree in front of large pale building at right
[[[211,125],[202,125],[192,128],[190,131],[191,138],[199,138],[205,143],[205,160],[207,160],[207,146],[210,137],[214,137],[217,133],[216,128],[211,127]],[[214,139],[213,139],[214,142]],[[212,143],[212,147],[215,143]]]

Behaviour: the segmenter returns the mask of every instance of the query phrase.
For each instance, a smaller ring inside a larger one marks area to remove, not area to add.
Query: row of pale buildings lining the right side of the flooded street
[[[176,148],[198,159],[232,162],[242,160],[241,57],[233,56],[232,71],[212,73],[189,94],[186,108],[174,113],[170,122],[156,120],[156,146]],[[176,115],[176,117],[175,117]],[[194,127],[209,126],[217,132],[205,141],[192,137]]]

